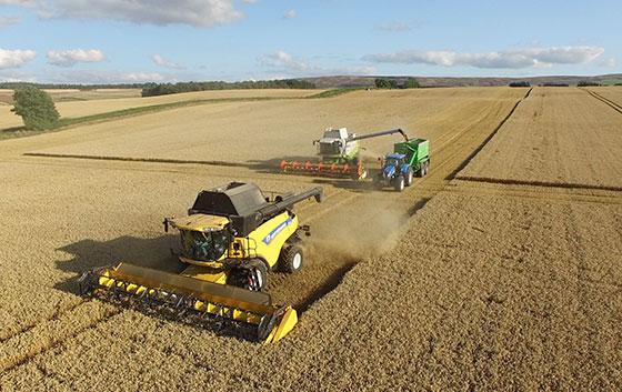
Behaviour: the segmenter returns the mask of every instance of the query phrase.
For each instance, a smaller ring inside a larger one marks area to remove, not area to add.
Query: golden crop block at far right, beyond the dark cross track
[[[534,88],[458,177],[622,187],[622,118],[599,101],[581,89]]]

